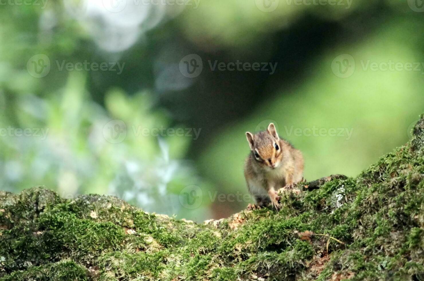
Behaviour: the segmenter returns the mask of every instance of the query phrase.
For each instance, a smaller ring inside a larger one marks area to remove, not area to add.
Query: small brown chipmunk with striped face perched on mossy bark
[[[250,194],[256,201],[248,209],[262,208],[270,203],[277,210],[281,197],[279,188],[293,188],[303,180],[302,153],[287,140],[279,138],[273,123],[266,131],[253,135],[246,132],[251,153],[245,160],[244,177]]]

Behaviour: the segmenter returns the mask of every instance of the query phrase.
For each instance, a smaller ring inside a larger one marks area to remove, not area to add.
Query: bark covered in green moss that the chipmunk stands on
[[[115,197],[0,192],[0,280],[423,280],[424,119],[356,178],[196,224]]]

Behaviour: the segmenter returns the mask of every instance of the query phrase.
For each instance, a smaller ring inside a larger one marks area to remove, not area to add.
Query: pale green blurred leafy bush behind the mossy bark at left
[[[46,185],[65,198],[112,194],[148,211],[178,214],[183,183],[199,181],[178,160],[187,151],[187,138],[158,142],[153,135],[137,135],[139,128],[169,122],[163,112],[151,110],[149,94],[130,97],[110,90],[102,108],[90,101],[84,81],[82,73],[71,72],[56,96],[28,95],[16,101],[15,121],[2,120],[13,133],[0,138],[1,189]],[[108,128],[112,118],[127,126],[116,142]],[[21,136],[16,128],[31,129],[31,134]]]

